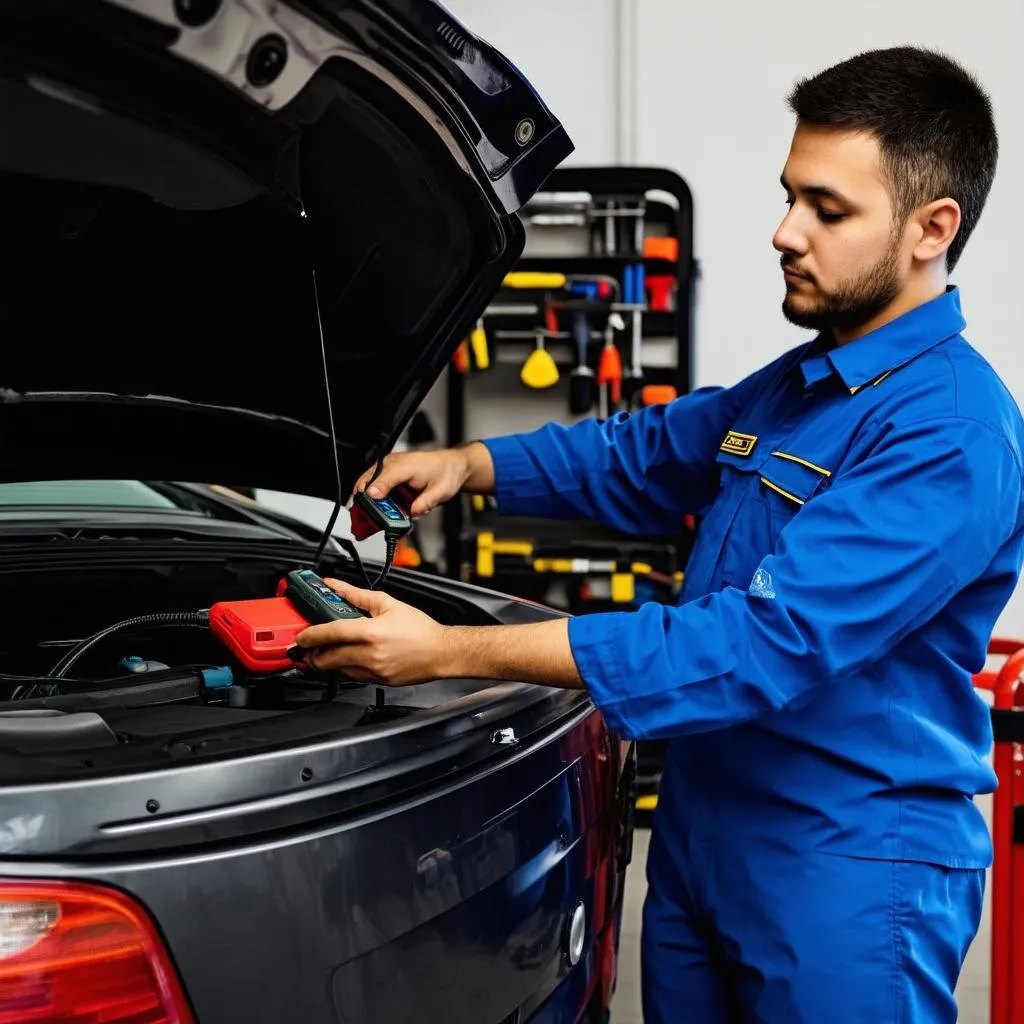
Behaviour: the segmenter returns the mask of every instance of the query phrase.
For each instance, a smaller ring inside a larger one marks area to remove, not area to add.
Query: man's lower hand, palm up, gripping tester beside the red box
[[[449,637],[443,626],[379,591],[359,590],[338,580],[324,582],[373,617],[340,618],[303,630],[295,642],[311,648],[306,656],[309,666],[388,686],[408,686],[450,675],[445,658]]]

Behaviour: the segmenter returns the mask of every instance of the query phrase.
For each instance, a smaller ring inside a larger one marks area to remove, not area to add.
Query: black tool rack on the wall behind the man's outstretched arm
[[[539,338],[560,375],[571,376],[580,364],[575,344],[580,338],[570,321],[574,318],[579,328],[581,312],[590,330],[588,365],[596,374],[602,348],[613,343],[625,371],[621,401],[611,400],[612,388],[599,388],[596,408],[583,415],[601,419],[629,412],[651,394],[665,400],[666,387],[680,395],[689,392],[697,264],[692,197],[685,181],[658,168],[562,168],[525,207],[522,218],[526,248],[514,267],[520,280],[523,274],[561,274],[573,284],[597,279],[613,287],[610,295],[605,289],[601,297],[572,292],[568,286],[503,288],[478,325],[486,339],[484,367],[477,360],[479,349],[467,339],[447,375],[449,443],[469,439],[467,410],[474,400],[487,400],[487,394],[490,400],[496,395],[514,397],[520,407],[530,400],[531,392],[520,381],[518,368]],[[554,244],[549,240],[555,240]],[[628,275],[638,265],[648,286],[640,301],[636,301],[635,287],[632,294],[626,289]],[[673,278],[676,284],[666,303],[665,286]],[[642,381],[631,375],[634,313],[639,314]],[[610,326],[612,314],[617,314],[617,330]],[[656,357],[648,358],[652,350]],[[484,376],[485,387],[477,383]],[[651,385],[662,390],[652,392]],[[539,404],[542,410],[550,414],[550,402]],[[539,415],[534,425],[551,418]],[[564,416],[558,419],[571,423],[581,418],[570,413],[566,399]],[[514,429],[523,429],[521,421]],[[444,561],[450,575],[532,600],[549,600],[573,613],[630,607],[652,599],[675,600],[692,537],[692,522],[681,522],[678,535],[672,537],[641,538],[592,523],[502,516],[492,499],[482,498],[450,503],[444,511]],[[553,581],[560,585],[556,588],[562,591],[560,598],[551,597]]]

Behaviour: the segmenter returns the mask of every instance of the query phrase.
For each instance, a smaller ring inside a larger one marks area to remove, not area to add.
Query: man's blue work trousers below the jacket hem
[[[659,815],[643,923],[645,1024],[953,1024],[985,872],[730,849]]]

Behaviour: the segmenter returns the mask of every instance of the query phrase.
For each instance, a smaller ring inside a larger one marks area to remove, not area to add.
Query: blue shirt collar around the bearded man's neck
[[[961,311],[959,289],[949,286],[945,293],[897,316],[848,345],[823,351],[824,338],[808,348],[801,361],[807,387],[838,374],[855,394],[865,384],[892,373],[915,359],[941,341],[959,334],[967,326]]]

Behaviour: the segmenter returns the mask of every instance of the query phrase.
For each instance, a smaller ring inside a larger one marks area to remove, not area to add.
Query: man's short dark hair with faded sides
[[[985,206],[998,137],[988,96],[955,60],[896,46],[859,53],[800,82],[788,97],[798,123],[870,132],[899,224],[949,197],[961,227],[946,254],[956,265]]]

